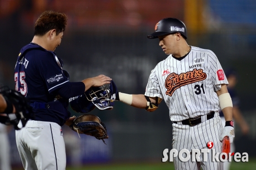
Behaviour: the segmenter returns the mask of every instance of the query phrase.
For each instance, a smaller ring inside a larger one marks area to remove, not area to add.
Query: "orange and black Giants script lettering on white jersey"
[[[203,73],[203,69],[193,69],[193,71],[181,74],[171,73],[165,80],[165,88],[167,89],[165,94],[171,96],[173,92],[181,86],[202,81],[204,79],[206,79],[206,74]]]

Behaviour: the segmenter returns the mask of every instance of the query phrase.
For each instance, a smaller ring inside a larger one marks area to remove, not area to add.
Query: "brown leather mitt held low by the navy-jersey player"
[[[84,114],[80,117],[76,117],[74,122],[69,127],[77,132],[78,135],[79,133],[84,133],[94,136],[96,139],[102,139],[104,143],[104,139],[108,138],[106,126],[101,122],[99,117],[92,114]]]

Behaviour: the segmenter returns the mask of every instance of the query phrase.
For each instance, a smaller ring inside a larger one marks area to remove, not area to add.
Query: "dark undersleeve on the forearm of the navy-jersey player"
[[[85,92],[85,84],[83,82],[67,82],[65,86],[58,89],[59,96],[65,99],[81,95]]]

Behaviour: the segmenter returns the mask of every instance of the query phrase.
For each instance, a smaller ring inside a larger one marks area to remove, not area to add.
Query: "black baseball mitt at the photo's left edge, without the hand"
[[[0,94],[4,96],[6,102],[13,104],[16,110],[15,114],[11,114],[11,112],[1,114],[0,122],[5,125],[12,124],[16,130],[19,130],[17,125],[21,120],[22,127],[24,127],[28,119],[33,118],[32,108],[28,105],[27,99],[20,92],[11,90],[7,86],[0,88]]]

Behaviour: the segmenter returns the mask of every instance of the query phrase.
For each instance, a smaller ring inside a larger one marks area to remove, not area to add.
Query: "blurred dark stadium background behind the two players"
[[[236,91],[250,133],[243,136],[236,127],[236,152],[256,156],[255,0],[0,0],[0,83],[14,89],[16,58],[21,47],[32,41],[34,22],[45,10],[69,17],[55,52],[64,61],[70,81],[105,74],[115,81],[118,91],[130,94],[144,94],[150,71],[167,57],[157,39],[147,38],[155,24],[165,17],[184,21],[189,45],[212,50],[224,71],[237,71]],[[162,151],[171,149],[172,125],[164,102],[155,112],[115,102],[112,111],[95,109],[91,114],[107,126],[107,145],[89,136],[79,139],[63,127],[64,136],[70,134],[68,164],[94,162],[96,157],[102,162],[161,161]],[[9,136],[12,164],[21,165],[14,132]],[[84,147],[80,162],[72,159],[71,138]]]

